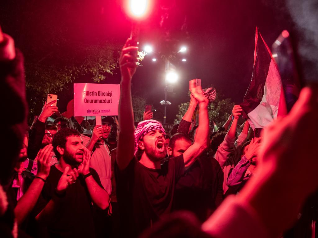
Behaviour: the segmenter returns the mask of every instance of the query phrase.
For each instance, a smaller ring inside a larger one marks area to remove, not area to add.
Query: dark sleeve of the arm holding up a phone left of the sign
[[[45,133],[45,122],[37,120],[30,133],[29,145],[28,145],[28,158],[34,160],[38,155],[38,151],[41,149],[42,140]]]

